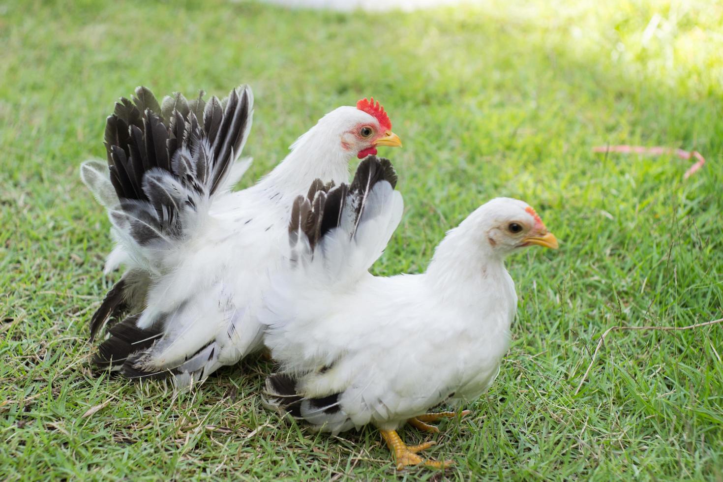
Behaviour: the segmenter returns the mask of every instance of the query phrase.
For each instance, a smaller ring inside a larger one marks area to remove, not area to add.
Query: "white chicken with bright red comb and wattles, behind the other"
[[[346,181],[355,156],[401,145],[379,103],[360,100],[322,117],[258,184],[231,192],[250,163],[236,159],[252,92],[241,86],[208,103],[202,95],[159,105],[138,87],[108,117],[108,167],[81,167],[112,223],[106,272],[125,266],[91,322],[91,338],[112,322],[94,361],[132,378],[171,376],[178,388],[261,347],[257,311],[286,266],[294,198],[315,179]]]

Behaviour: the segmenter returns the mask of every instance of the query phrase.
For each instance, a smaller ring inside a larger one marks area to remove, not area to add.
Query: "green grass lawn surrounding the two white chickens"
[[[104,119],[136,85],[224,95],[247,82],[244,186],[323,113],[382,100],[405,146],[380,153],[406,211],[378,274],[424,270],[445,230],[496,196],[529,202],[562,241],[508,263],[513,345],[474,415],[431,437],[429,454],[456,462],[445,476],[723,479],[722,324],[612,332],[575,394],[608,327],[722,316],[723,7],[175,3],[0,2],[0,478],[439,478],[395,473],[372,429],[331,438],[279,421],[257,396],[269,363],[175,399],[90,371],[87,322],[113,277],[79,163],[104,155]],[[591,152],[606,144],[708,163],[684,181],[687,161]]]

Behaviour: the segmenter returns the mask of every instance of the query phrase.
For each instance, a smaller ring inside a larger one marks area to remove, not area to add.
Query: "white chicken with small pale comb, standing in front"
[[[377,277],[369,267],[402,213],[388,160],[367,158],[351,186],[294,202],[290,273],[265,297],[265,343],[281,371],[265,403],[333,434],[372,423],[398,468],[424,463],[395,429],[453,413],[440,404],[476,400],[497,376],[516,311],[504,259],[533,244],[557,248],[536,212],[497,198],[447,233],[427,272]],[[317,184],[319,186],[319,184]]]

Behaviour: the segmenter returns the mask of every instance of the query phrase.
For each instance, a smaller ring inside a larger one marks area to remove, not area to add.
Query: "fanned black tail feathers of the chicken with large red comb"
[[[114,220],[139,244],[181,236],[179,212],[193,212],[199,198],[213,195],[241,152],[251,123],[249,90],[232,90],[225,109],[202,95],[189,103],[176,92],[159,106],[150,90],[138,87],[133,102],[121,98],[106,121],[111,184],[125,213]]]

